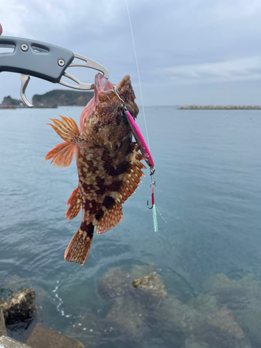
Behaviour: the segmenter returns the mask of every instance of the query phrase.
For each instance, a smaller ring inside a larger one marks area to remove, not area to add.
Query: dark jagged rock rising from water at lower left
[[[1,301],[0,308],[6,320],[6,325],[31,319],[35,314],[33,299],[35,291],[29,287]]]

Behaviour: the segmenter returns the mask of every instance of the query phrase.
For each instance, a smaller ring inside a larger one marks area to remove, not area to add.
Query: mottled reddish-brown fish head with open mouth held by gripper
[[[132,131],[122,113],[122,104],[113,92],[113,86],[116,86],[120,98],[135,119],[139,108],[134,101],[136,97],[129,75],[115,85],[100,73],[95,76],[93,99],[86,105],[80,119],[82,134],[94,145],[108,150],[116,150],[122,141],[132,137]]]

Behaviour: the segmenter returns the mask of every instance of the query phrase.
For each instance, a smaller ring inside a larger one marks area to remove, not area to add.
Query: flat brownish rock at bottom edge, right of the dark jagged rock
[[[47,329],[45,326],[35,326],[24,343],[32,348],[84,348],[78,340]]]

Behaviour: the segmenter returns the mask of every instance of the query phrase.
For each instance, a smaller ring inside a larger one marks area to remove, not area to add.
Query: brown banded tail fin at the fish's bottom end
[[[66,261],[84,264],[90,251],[90,244],[93,241],[93,230],[82,231],[77,230],[72,237],[67,249],[65,250],[64,258]]]

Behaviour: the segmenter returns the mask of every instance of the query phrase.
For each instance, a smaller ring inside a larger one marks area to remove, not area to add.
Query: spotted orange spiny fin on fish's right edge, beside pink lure
[[[135,193],[136,188],[139,189],[138,184],[141,182],[140,177],[145,176],[141,169],[147,168],[141,163],[141,160],[144,159],[144,157],[138,152],[139,149],[139,145],[132,143],[129,166],[122,177],[122,185],[120,186],[120,198],[118,199],[120,203],[124,203],[127,198],[132,196],[132,193]]]

